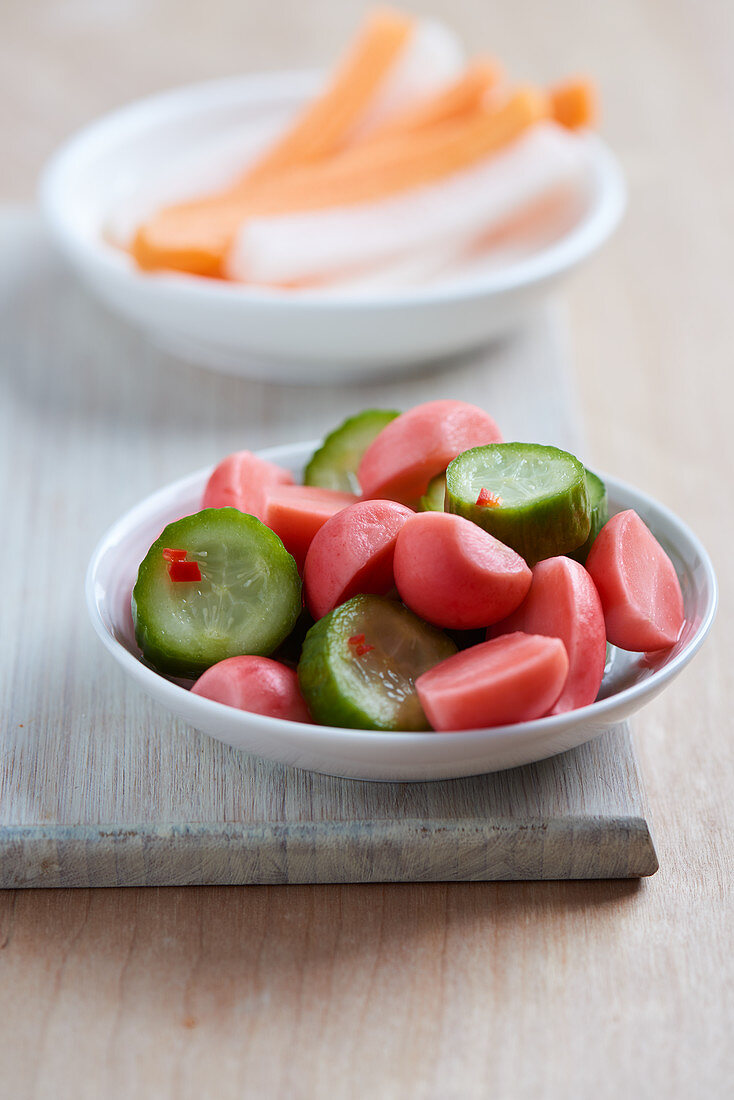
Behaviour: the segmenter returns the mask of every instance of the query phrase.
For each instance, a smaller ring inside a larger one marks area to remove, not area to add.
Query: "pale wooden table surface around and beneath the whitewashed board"
[[[6,0],[0,201],[30,200],[54,144],[101,110],[325,62],[361,8]],[[734,8],[431,10],[519,75],[594,73],[629,180],[622,232],[567,294],[587,432],[601,469],[684,515],[722,587],[704,652],[635,726],[660,870],[642,883],[4,892],[4,1096],[731,1096]]]

